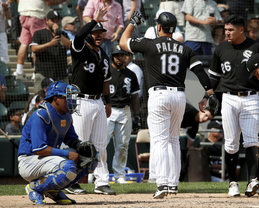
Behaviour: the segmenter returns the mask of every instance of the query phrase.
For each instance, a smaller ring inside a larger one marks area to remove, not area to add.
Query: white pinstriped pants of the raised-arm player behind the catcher
[[[95,188],[110,185],[106,152],[107,116],[102,99],[81,98],[80,114],[82,116],[72,114],[75,132],[80,140],[92,142],[101,156],[101,162],[94,172]]]

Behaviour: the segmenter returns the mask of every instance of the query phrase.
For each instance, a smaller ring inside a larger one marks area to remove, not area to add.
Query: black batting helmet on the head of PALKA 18
[[[158,19],[154,20],[158,24],[161,25],[162,30],[164,32],[175,32],[176,31],[176,25],[177,25],[177,19],[175,15],[169,13],[169,12],[162,12]]]

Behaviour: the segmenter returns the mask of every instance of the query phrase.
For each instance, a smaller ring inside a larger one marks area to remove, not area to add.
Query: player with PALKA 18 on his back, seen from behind
[[[199,78],[203,88],[210,94],[209,106],[218,110],[218,99],[211,88],[209,78],[194,51],[172,39],[177,20],[174,15],[163,12],[155,20],[158,38],[132,38],[135,27],[142,24],[142,14],[133,12],[130,24],[123,32],[120,46],[131,53],[144,56],[148,80],[149,130],[155,144],[155,167],[157,191],[153,198],[163,198],[168,193],[177,194],[181,171],[180,126],[185,111],[185,77],[187,68]],[[200,111],[207,99],[199,102]]]

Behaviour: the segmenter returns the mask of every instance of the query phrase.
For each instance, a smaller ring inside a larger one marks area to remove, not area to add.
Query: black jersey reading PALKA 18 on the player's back
[[[186,71],[201,62],[194,51],[170,37],[130,38],[128,49],[144,56],[148,87],[169,86],[185,87]]]

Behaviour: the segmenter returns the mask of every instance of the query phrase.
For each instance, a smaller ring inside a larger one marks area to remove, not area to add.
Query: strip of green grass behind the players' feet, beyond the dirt
[[[244,193],[247,182],[240,182],[240,193]],[[88,193],[94,193],[94,184],[80,184]],[[26,185],[0,185],[0,195],[26,195]],[[154,193],[154,183],[111,184],[113,190],[122,193]],[[224,182],[180,182],[179,193],[228,193],[229,183]],[[67,191],[64,191],[68,193]]]

